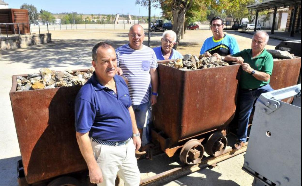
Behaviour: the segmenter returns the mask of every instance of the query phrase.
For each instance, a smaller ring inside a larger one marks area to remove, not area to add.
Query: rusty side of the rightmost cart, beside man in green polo
[[[271,74],[270,84],[274,90],[294,86],[298,82],[301,68],[301,58],[284,59],[274,61],[274,68]],[[282,101],[291,103],[294,98],[287,98]]]

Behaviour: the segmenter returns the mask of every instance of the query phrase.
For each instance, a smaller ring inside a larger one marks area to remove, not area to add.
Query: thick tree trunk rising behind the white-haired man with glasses
[[[174,45],[174,49],[177,49],[179,44],[180,35],[182,33],[182,28],[184,26],[184,18],[185,13],[191,8],[193,0],[190,0],[189,4],[188,1],[182,0],[174,0],[172,4],[172,17],[173,17],[173,28],[172,30],[176,33],[176,44]]]

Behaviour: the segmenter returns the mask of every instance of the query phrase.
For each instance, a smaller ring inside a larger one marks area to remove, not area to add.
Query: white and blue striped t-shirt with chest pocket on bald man
[[[157,68],[156,55],[153,49],[143,45],[134,50],[128,44],[116,49],[117,66],[128,78],[128,89],[133,105],[149,101],[150,68]]]

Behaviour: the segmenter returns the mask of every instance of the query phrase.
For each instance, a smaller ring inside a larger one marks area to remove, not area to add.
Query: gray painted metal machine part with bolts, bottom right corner
[[[301,185],[301,84],[258,98],[242,169],[254,186]]]

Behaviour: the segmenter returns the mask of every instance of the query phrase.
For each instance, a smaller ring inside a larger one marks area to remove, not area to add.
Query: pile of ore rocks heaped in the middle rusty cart
[[[169,61],[167,66],[178,68],[179,70],[189,71],[189,70],[197,70],[203,68],[214,68],[220,66],[227,66],[228,63],[217,59],[215,56],[205,57],[204,55],[200,55],[197,57],[196,55],[186,54],[183,59],[177,59],[176,61]]]

